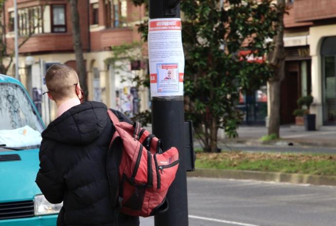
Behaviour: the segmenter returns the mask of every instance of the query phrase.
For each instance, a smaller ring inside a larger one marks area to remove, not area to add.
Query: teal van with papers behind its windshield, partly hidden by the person
[[[56,226],[62,204],[49,203],[35,183],[44,129],[22,84],[0,74],[0,226]]]

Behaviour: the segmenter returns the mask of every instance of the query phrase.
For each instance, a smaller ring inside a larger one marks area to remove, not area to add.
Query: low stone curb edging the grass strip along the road
[[[287,173],[243,171],[243,170],[196,169],[196,171],[194,172],[187,172],[187,176],[336,186],[336,176],[323,176],[323,175],[310,175],[310,174],[287,174]]]

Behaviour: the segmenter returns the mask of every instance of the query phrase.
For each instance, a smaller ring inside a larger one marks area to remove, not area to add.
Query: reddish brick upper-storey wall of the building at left
[[[99,26],[106,26],[106,11],[104,9],[105,0],[98,0],[99,5]],[[107,28],[100,31],[90,32],[89,19],[92,18],[91,5],[87,0],[78,1],[78,11],[80,15],[81,38],[84,51],[91,49],[92,51],[108,50],[111,46],[121,45],[140,40],[140,35],[137,33],[136,27],[130,28]],[[28,41],[19,49],[20,53],[38,53],[38,52],[72,52],[72,22],[71,8],[68,0],[18,0],[18,8],[26,8],[43,4],[65,4],[66,5],[66,33],[45,33],[32,35]],[[5,2],[5,23],[9,22],[8,9],[13,8],[13,0]],[[127,4],[127,22],[139,21],[145,17],[144,7],[135,7],[128,1]],[[6,34],[10,33],[8,28]],[[10,53],[14,49],[14,37],[7,38],[7,51]],[[22,38],[19,39],[19,43]]]

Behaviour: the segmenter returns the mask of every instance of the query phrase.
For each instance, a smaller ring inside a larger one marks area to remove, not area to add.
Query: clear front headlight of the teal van
[[[56,214],[62,208],[63,202],[59,204],[51,204],[46,200],[43,194],[35,195],[34,197],[34,210],[35,216]]]

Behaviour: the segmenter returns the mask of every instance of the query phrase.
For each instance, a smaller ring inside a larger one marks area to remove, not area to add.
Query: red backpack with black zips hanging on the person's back
[[[171,147],[162,152],[160,139],[139,122],[120,122],[116,114],[108,110],[115,128],[107,156],[112,205],[132,216],[167,211],[166,194],[179,166],[179,151]]]

